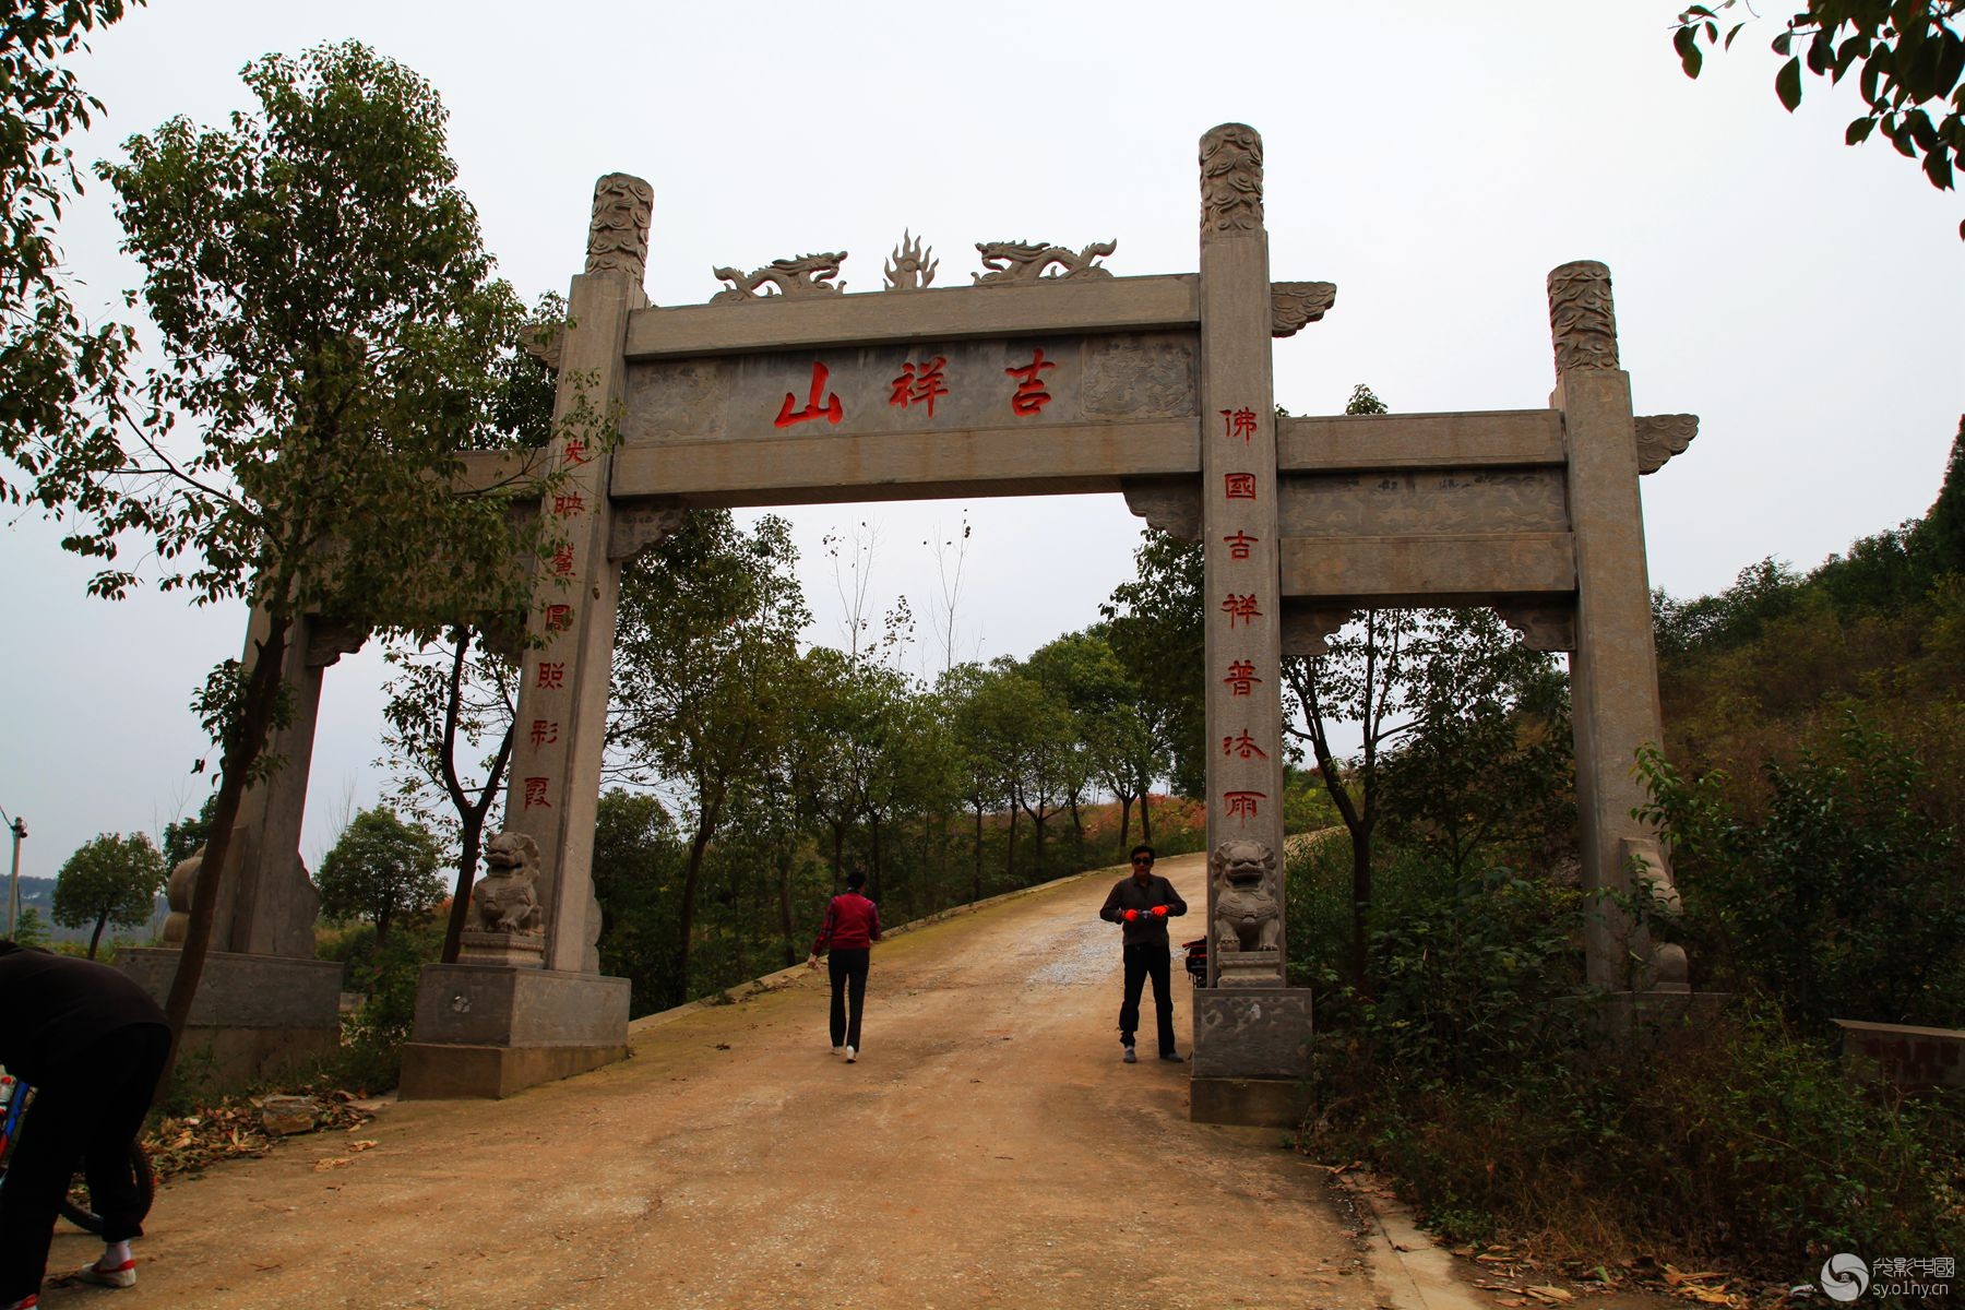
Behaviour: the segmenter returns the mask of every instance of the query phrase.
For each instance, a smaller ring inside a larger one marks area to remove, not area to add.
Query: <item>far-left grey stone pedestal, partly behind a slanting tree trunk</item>
[[[177,978],[179,953],[122,947],[116,968],[161,1006]],[[285,955],[212,951],[198,974],[185,1053],[210,1059],[224,1084],[253,1082],[324,1059],[342,1041],[342,966]],[[195,1072],[195,1066],[183,1066]]]

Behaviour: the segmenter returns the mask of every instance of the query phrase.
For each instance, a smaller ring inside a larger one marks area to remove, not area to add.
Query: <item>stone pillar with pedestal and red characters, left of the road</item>
[[[558,399],[540,513],[552,548],[540,562],[521,662],[505,831],[538,846],[534,935],[466,945],[456,964],[424,968],[405,1098],[507,1096],[627,1055],[627,978],[599,974],[593,817],[607,735],[619,554],[607,479],[627,379],[627,320],[646,308],[648,183],[611,173],[593,187],[586,273],[568,291]],[[536,949],[536,958],[529,953]]]

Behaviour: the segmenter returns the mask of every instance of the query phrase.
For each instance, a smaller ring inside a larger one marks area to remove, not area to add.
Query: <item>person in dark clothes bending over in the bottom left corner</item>
[[[108,1247],[67,1281],[136,1286],[130,1239],[143,1226],[130,1145],[169,1051],[163,1010],[132,978],[0,939],[0,1064],[35,1088],[0,1186],[0,1310],[35,1304],[77,1165]]]

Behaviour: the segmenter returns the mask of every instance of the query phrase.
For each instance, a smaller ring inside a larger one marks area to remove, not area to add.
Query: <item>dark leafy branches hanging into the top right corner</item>
[[[1719,16],[1735,6],[1741,0],[1694,4],[1678,16],[1672,45],[1686,77],[1700,75],[1706,65],[1700,43],[1721,41]],[[1753,14],[1753,6],[1741,8]],[[1953,165],[1965,155],[1965,86],[1959,84],[1965,37],[1953,26],[1961,12],[1965,0],[1808,0],[1772,41],[1782,57],[1774,94],[1794,112],[1802,102],[1804,67],[1829,82],[1857,71],[1863,114],[1849,122],[1843,139],[1857,145],[1881,128],[1896,153],[1924,157],[1932,187],[1951,191]],[[1745,26],[1741,20],[1727,27],[1727,49]],[[1932,112],[1941,118],[1932,122]],[[1965,222],[1959,238],[1965,240]]]

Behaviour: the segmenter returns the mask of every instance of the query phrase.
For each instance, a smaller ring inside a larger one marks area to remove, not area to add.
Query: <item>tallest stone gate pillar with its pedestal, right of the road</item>
[[[1189,1114],[1297,1123],[1311,994],[1283,937],[1281,550],[1262,137],[1201,137],[1201,540],[1207,630],[1208,982]]]

